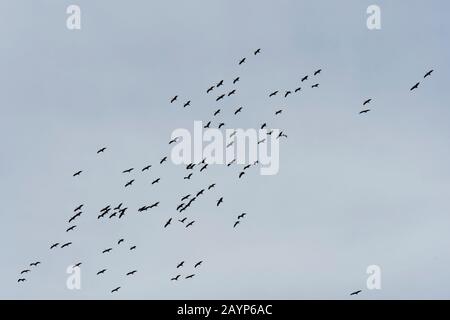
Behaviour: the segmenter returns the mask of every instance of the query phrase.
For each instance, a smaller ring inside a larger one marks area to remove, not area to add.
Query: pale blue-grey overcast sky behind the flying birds
[[[73,3],[80,31],[66,28]],[[370,4],[381,7],[379,31],[366,28]],[[362,299],[450,298],[449,9],[444,0],[0,1],[0,298],[114,298],[116,286],[115,297],[137,299],[346,299],[357,289]],[[318,68],[320,88],[310,80],[298,95],[268,99]],[[212,119],[209,85],[225,79],[231,89],[236,76],[221,120],[284,130],[279,174],[239,180],[238,168],[215,166],[186,182],[184,167],[160,167],[174,129]],[[359,116],[366,98],[372,112]],[[146,164],[124,189],[122,170]],[[180,196],[213,182],[187,210],[194,228],[163,229],[181,217]],[[126,219],[97,221],[120,202]],[[73,246],[49,251],[65,241]],[[34,260],[42,265],[18,285]],[[204,264],[192,281],[171,283],[181,260],[183,274]],[[71,291],[65,271],[79,261],[82,290]],[[371,264],[382,290],[365,289]]]

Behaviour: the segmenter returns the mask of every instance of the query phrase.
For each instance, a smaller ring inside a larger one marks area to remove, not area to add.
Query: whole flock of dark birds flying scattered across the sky
[[[257,56],[261,53],[261,49],[257,49],[253,52],[253,56]],[[249,59],[247,57],[241,58],[238,61],[238,68],[241,68],[243,64],[247,63]],[[307,81],[309,81],[311,78],[314,80],[312,83],[310,83],[309,85],[307,85],[306,87],[310,87],[311,89],[317,89],[319,88],[319,83],[315,80],[317,80],[317,78],[320,76],[322,72],[322,69],[316,69],[314,72],[312,72],[312,75],[305,75],[301,78],[299,78],[300,80],[300,85],[299,86],[295,86],[294,89],[287,89],[287,90],[274,90],[268,93],[268,97],[270,99],[273,99],[277,96],[281,96],[284,99],[287,99],[289,96],[293,95],[293,94],[298,94],[299,92],[301,92],[303,90],[303,88],[305,88],[304,84],[307,83]],[[424,78],[428,78],[431,74],[432,74],[433,70],[430,70],[429,72],[427,72],[424,76]],[[215,84],[210,85],[207,89],[206,89],[206,94],[210,95],[215,91],[219,91],[221,90],[216,98],[214,99],[216,103],[223,103],[223,101],[226,101],[227,98],[238,94],[238,87],[237,84],[241,81],[241,75],[234,77],[231,81],[231,88],[228,88],[228,90],[224,90],[225,87],[225,80],[220,80],[218,82],[216,82]],[[420,82],[417,82],[410,90],[416,90],[420,85]],[[180,97],[178,95],[173,96],[173,98],[171,98],[170,104],[175,104],[180,100]],[[363,102],[363,106],[368,105],[370,102],[372,101],[372,99],[367,99]],[[192,106],[192,100],[191,99],[186,99],[186,101],[184,103],[181,103],[183,108],[187,108],[189,106]],[[243,107],[239,106],[236,109],[234,109],[234,111],[232,112],[234,116],[237,116],[239,113],[243,112]],[[369,111],[371,111],[370,109],[364,109],[362,111],[360,111],[360,114],[365,114],[368,113]],[[279,116],[280,114],[282,114],[283,109],[277,109],[274,111],[274,115],[275,116]],[[210,128],[213,125],[213,122],[216,124],[217,128],[223,128],[226,126],[225,122],[223,122],[223,120],[216,120],[219,115],[223,114],[225,112],[222,112],[222,107],[217,109],[214,113],[213,113],[213,119],[209,120],[207,122],[207,124],[204,126],[204,128]],[[264,128],[268,128],[268,124],[267,122],[263,122],[261,125],[259,125],[259,127],[261,129]],[[270,130],[267,132],[267,135],[271,135],[273,132],[273,130]],[[230,139],[233,138],[233,136],[236,134],[236,132],[231,133],[230,135]],[[280,130],[280,133],[277,136],[277,139],[281,139],[281,138],[287,138],[287,135]],[[169,145],[172,145],[173,143],[176,143],[178,141],[178,138],[174,138],[172,140],[169,141]],[[234,140],[231,141],[231,143],[229,143],[226,147],[229,148],[233,145]],[[264,143],[265,139],[258,141],[259,143]],[[97,154],[100,155],[104,152],[106,152],[108,150],[107,147],[102,147],[97,151]],[[200,174],[201,172],[204,172],[208,169],[208,163],[206,163],[207,159],[203,159],[201,162],[199,163],[190,163],[186,166],[186,175],[183,176],[183,180],[191,180],[194,174]],[[164,156],[162,157],[158,163],[160,166],[164,165],[166,162],[168,161],[168,157]],[[230,163],[227,164],[227,167],[230,167],[231,165],[235,164],[236,159],[234,159],[233,161],[231,161]],[[238,178],[241,179],[246,172],[248,172],[248,170],[251,167],[254,167],[256,165],[258,165],[258,161],[255,161],[252,164],[247,164],[245,165],[241,170],[239,170],[238,173]],[[152,164],[148,164],[146,166],[144,166],[143,168],[140,169],[141,174],[143,174],[146,171],[150,171],[151,169],[154,169]],[[196,169],[197,172],[196,172]],[[138,171],[139,169],[135,169],[134,167],[130,167],[127,168],[125,170],[122,171],[122,173],[124,175],[131,175],[134,172]],[[73,174],[74,178],[80,177],[83,174],[83,170],[78,170]],[[137,177],[133,177],[130,178],[129,180],[127,180],[127,182],[124,184],[124,188],[132,188],[133,183],[136,181]],[[157,177],[155,179],[151,180],[151,185],[155,185],[161,182],[162,177]],[[196,222],[195,219],[189,218],[188,215],[185,214],[185,211],[190,209],[193,204],[198,201],[199,199],[201,199],[203,196],[205,196],[205,193],[209,193],[212,192],[213,189],[215,189],[216,187],[216,183],[210,183],[207,186],[205,186],[205,188],[202,188],[200,190],[197,190],[195,192],[192,192],[190,194],[186,194],[186,195],[182,195],[180,196],[180,201],[178,204],[176,204],[174,206],[174,210],[176,210],[176,212],[180,215],[183,214],[181,217],[179,218],[174,218],[174,217],[170,217],[169,219],[165,220],[165,222],[162,225],[162,228],[169,228],[170,226],[174,225],[174,221],[177,220],[177,223],[184,225],[185,229],[190,229],[194,226],[194,223]],[[215,205],[216,207],[221,206],[224,203],[224,196],[220,196],[217,198],[217,200],[215,201]],[[160,202],[154,202],[151,204],[145,204],[145,205],[141,205],[138,206],[136,208],[136,212],[138,214],[142,214],[144,212],[147,212],[148,210],[152,210],[155,209],[157,207],[160,206]],[[73,215],[68,219],[68,224],[69,226],[67,227],[67,229],[65,230],[66,233],[69,235],[73,232],[75,232],[75,230],[77,230],[78,226],[77,224],[75,224],[77,222],[77,220],[83,215],[83,210],[85,208],[84,204],[79,204],[75,207],[75,209],[73,210]],[[126,206],[124,203],[119,203],[117,205],[111,205],[111,204],[106,204],[102,209],[99,210],[98,215],[97,215],[97,220],[101,220],[101,219],[123,219],[126,214],[131,211],[132,209],[129,206]],[[233,223],[233,228],[237,228],[242,221],[244,221],[244,218],[247,216],[247,213],[242,212],[239,215],[237,215],[237,218],[234,220]],[[117,240],[117,246],[123,246],[125,245],[125,239],[121,238],[119,240]],[[72,245],[72,240],[66,240],[66,241],[61,241],[61,242],[54,242],[50,245],[50,250],[56,250],[56,249],[64,249],[64,248],[68,248]],[[129,244],[128,249],[129,251],[134,251],[136,250],[137,246],[134,244]],[[101,251],[102,254],[108,254],[111,251],[113,251],[114,248],[113,247],[108,247],[105,248]],[[176,266],[177,270],[180,270],[180,268],[182,268],[184,266],[185,261],[181,261],[180,263],[178,263],[178,265]],[[194,264],[194,271],[197,270],[200,265],[202,265],[203,260],[199,261],[197,263]],[[24,269],[20,272],[21,277],[17,280],[17,282],[19,283],[23,283],[25,282],[27,279],[25,278],[24,275],[27,275],[29,273],[31,273],[32,269],[37,268],[39,265],[41,265],[41,261],[35,261],[29,264],[29,268]],[[73,265],[73,268],[81,268],[82,262],[77,262]],[[105,274],[106,272],[108,272],[108,268],[100,268],[99,271],[96,273],[97,276],[101,276],[103,274]],[[131,277],[133,275],[135,275],[138,272],[137,269],[133,269],[129,272],[127,272],[125,274],[126,277]],[[187,274],[185,274],[183,277],[184,279],[192,279],[196,274],[194,272],[189,272]],[[178,281],[179,279],[182,278],[182,275],[180,273],[177,273],[174,276],[168,277],[170,279],[170,281]],[[111,293],[117,293],[119,292],[119,290],[122,288],[122,285],[120,286],[114,286],[112,290],[110,290]],[[351,295],[357,295],[361,292],[361,290],[352,292]]]

